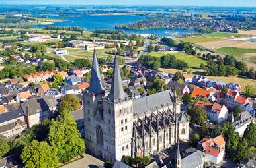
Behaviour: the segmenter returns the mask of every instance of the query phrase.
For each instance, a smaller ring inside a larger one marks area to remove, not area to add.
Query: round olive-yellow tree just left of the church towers
[[[60,98],[60,111],[75,111],[79,109],[80,99],[75,94],[65,94]]]

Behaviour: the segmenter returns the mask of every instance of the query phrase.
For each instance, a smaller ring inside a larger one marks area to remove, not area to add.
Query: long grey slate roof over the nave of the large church
[[[138,115],[140,115],[144,112],[151,111],[151,109],[155,110],[161,107],[161,105],[163,105],[163,107],[167,106],[167,103],[170,105],[173,103],[173,96],[174,95],[171,90],[165,90],[163,92],[152,94],[144,98],[134,99],[134,113],[138,113]]]

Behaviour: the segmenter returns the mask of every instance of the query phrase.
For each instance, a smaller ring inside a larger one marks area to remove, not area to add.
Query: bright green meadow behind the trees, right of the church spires
[[[153,55],[157,57],[161,57],[163,55],[175,55],[175,57],[179,60],[183,60],[189,64],[189,67],[200,67],[201,63],[206,65],[207,61],[202,59],[202,57],[196,57],[194,55],[188,55],[187,53],[148,53],[148,55]]]

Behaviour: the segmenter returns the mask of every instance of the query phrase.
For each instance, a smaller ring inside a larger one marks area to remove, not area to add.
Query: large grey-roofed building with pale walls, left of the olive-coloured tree
[[[45,119],[50,119],[57,109],[57,104],[58,102],[51,95],[21,103],[21,110],[28,128],[42,123]]]

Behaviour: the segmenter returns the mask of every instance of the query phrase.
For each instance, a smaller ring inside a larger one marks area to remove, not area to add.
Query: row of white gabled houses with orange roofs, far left
[[[47,70],[46,72],[41,72],[41,73],[36,72],[36,74],[25,74],[24,79],[27,80],[28,82],[37,83],[37,82],[41,82],[44,80],[48,80],[49,78],[52,78],[52,76],[57,72],[58,71],[56,70],[52,70],[52,72]]]

